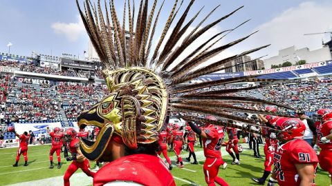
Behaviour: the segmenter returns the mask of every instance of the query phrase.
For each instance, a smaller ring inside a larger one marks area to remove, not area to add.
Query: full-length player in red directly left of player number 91
[[[277,139],[275,136],[275,132],[269,130],[268,127],[273,128],[273,123],[279,119],[279,116],[263,116],[258,114],[262,123],[266,127],[262,128],[262,135],[265,137],[265,145],[264,145],[264,154],[265,154],[265,162],[264,162],[264,174],[261,178],[252,178],[256,183],[264,185],[266,178],[270,175],[273,165],[273,155],[275,154],[275,149],[277,149]]]

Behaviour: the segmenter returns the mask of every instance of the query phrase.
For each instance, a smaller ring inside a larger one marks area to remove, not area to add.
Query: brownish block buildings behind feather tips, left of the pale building
[[[248,62],[250,61],[250,62]],[[245,63],[246,64],[241,64]],[[237,65],[241,64],[241,65]],[[237,65],[237,66],[234,66]],[[233,61],[230,61],[225,64],[225,72],[245,72],[252,70],[263,70],[264,69],[264,61],[261,59],[252,60],[250,56],[241,56]],[[228,67],[228,68],[227,68]]]

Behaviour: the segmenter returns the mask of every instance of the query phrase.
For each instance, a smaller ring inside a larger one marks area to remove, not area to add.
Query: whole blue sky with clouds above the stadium
[[[173,0],[165,1],[166,6],[161,15],[164,20],[174,2]],[[122,12],[123,1],[115,0],[115,2],[118,13]],[[159,0],[158,4],[160,5],[161,2]],[[187,3],[188,0],[185,0],[184,6]],[[311,49],[320,48],[322,39],[324,41],[329,39],[328,34],[310,37],[305,37],[303,34],[332,30],[332,2],[329,0],[196,0],[190,15],[205,6],[201,13],[203,17],[219,4],[221,7],[214,12],[209,21],[239,6],[245,7],[217,25],[210,34],[232,28],[246,19],[252,19],[239,30],[228,35],[220,44],[243,37],[254,30],[260,30],[248,41],[227,50],[225,56],[264,44],[272,45],[262,52],[253,54],[254,56],[261,54],[273,56],[279,49],[291,45],[297,48],[306,46]],[[74,0],[1,0],[0,8],[0,52],[8,52],[6,46],[8,42],[13,44],[11,53],[20,55],[30,55],[32,51],[51,54],[52,51],[52,54],[57,56],[62,53],[82,56],[83,51],[87,50],[89,39],[78,18]],[[163,23],[165,21],[160,21],[161,26],[157,32],[162,30]]]

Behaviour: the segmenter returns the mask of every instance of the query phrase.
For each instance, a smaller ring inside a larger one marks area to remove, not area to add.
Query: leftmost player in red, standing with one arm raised
[[[14,127],[8,127],[8,132],[14,132],[15,136],[19,138],[19,149],[17,149],[17,155],[16,155],[16,162],[12,167],[17,167],[19,163],[19,156],[23,154],[24,156],[24,166],[28,166],[28,143],[29,143],[29,138],[30,134],[28,132],[24,132],[23,134],[19,135],[17,132],[15,132]]]

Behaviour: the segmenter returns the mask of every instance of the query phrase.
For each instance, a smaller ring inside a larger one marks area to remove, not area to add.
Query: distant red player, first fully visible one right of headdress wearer
[[[181,127],[179,129],[178,125],[175,125],[175,130],[172,132],[171,141],[173,143],[174,152],[176,154],[176,157],[178,158],[178,161],[176,161],[176,165],[180,168],[185,167],[183,165],[182,157],[181,157],[181,150],[182,145],[185,144],[185,141],[183,139],[183,128]]]

